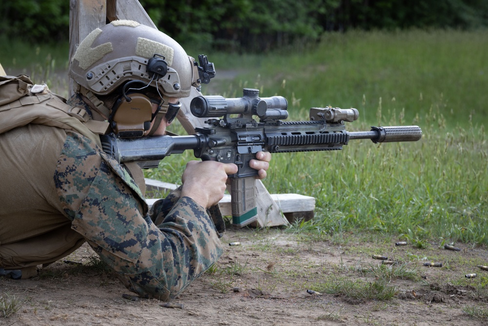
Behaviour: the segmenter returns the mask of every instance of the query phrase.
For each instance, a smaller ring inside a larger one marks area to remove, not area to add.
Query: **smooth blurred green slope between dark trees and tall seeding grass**
[[[244,66],[247,72],[226,91],[239,96],[239,86],[245,84],[260,88],[264,96],[283,95],[292,102],[293,118],[303,119],[310,107],[331,105],[357,108],[362,121],[377,123],[381,100],[382,123],[403,109],[406,123],[431,109],[439,109],[441,122],[445,119],[449,125],[467,126],[470,114],[486,122],[483,103],[488,94],[482,90],[488,84],[487,34],[326,33],[313,50],[262,56],[255,64],[249,62],[252,56],[244,56],[236,68]],[[439,118],[429,124],[437,127]]]

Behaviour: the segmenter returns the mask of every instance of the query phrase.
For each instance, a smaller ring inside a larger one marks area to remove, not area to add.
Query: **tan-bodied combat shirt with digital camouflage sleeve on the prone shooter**
[[[56,261],[85,239],[128,289],[171,300],[222,254],[203,207],[177,190],[148,212],[130,174],[76,131],[28,124],[4,132],[0,164],[9,172],[0,178],[1,268]],[[14,189],[19,183],[27,189]]]

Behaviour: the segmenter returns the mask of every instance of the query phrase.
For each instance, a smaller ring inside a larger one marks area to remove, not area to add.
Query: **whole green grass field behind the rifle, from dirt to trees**
[[[49,58],[42,51],[31,56],[36,65]],[[12,59],[0,53],[8,68]],[[349,131],[423,130],[414,143],[352,140],[343,151],[273,155],[267,190],[316,198],[315,217],[291,231],[317,239],[346,231],[403,235],[419,248],[438,239],[488,245],[487,31],[326,33],[296,52],[206,54],[217,69],[214,94],[237,97],[257,87],[261,96],[285,96],[288,120],[331,105],[359,109]],[[238,75],[218,82],[222,68]],[[178,124],[172,130],[184,134]],[[146,176],[180,183],[190,159],[190,151],[171,155]]]

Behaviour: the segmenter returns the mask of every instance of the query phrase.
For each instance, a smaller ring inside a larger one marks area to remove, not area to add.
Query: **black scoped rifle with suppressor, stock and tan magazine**
[[[289,121],[283,96],[259,97],[259,90],[244,88],[243,97],[197,96],[190,111],[210,118],[209,127],[195,128],[189,136],[147,136],[121,138],[101,136],[103,150],[117,161],[138,162],[142,168],[156,168],[164,157],[193,150],[202,160],[235,163],[239,170],[231,178],[232,223],[247,225],[257,219],[256,174],[249,160],[259,151],[271,153],[342,150],[350,139],[371,139],[373,143],[417,141],[418,126],[371,127],[370,131],[346,131],[345,122],[359,117],[357,109],[311,108],[309,121]],[[259,117],[259,122],[253,116]],[[223,117],[223,119],[216,119]]]

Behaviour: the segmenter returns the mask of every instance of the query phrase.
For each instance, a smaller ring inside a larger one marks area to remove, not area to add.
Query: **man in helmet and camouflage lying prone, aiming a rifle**
[[[129,290],[169,301],[222,255],[212,212],[237,166],[190,161],[149,209],[141,168],[107,155],[100,135],[164,134],[200,87],[198,66],[157,29],[114,21],[80,43],[68,74],[68,100],[0,76],[0,275],[32,278],[86,241]],[[271,155],[256,157],[264,178]]]

